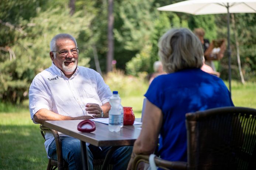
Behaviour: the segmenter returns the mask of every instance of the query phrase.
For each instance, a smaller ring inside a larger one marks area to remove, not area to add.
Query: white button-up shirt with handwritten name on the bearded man
[[[52,63],[51,67],[35,76],[30,85],[30,116],[36,123],[34,115],[43,108],[64,116],[89,115],[85,111],[87,103],[102,106],[109,102],[111,95],[110,88],[95,70],[78,66],[68,78]],[[59,135],[65,136],[62,133]],[[51,133],[46,133],[45,139],[45,149],[48,152],[54,138]]]

